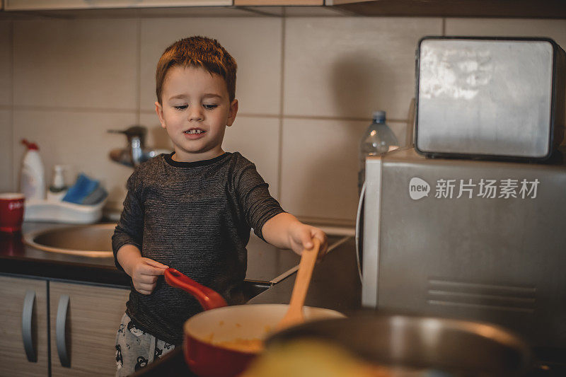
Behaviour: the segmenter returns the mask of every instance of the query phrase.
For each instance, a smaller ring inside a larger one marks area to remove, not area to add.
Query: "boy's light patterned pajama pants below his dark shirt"
[[[139,330],[124,314],[116,334],[116,377],[129,376],[174,348]]]

